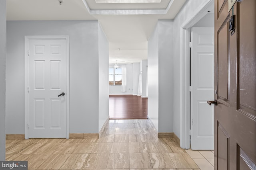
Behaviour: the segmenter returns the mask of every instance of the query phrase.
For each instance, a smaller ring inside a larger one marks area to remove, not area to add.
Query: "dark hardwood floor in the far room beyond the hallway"
[[[147,119],[148,98],[133,95],[109,95],[110,119]]]

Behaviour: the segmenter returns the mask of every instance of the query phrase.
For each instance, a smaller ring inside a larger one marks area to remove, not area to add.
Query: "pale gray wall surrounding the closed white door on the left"
[[[6,133],[24,134],[25,35],[70,37],[70,133],[99,132],[98,29],[98,21],[7,22]]]

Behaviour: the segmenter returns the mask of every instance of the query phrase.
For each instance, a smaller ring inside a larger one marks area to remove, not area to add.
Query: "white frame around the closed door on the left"
[[[69,36],[66,35],[32,35],[25,36],[25,139],[29,138],[28,125],[29,125],[29,77],[28,77],[28,47],[30,39],[66,39],[66,139],[69,138]]]

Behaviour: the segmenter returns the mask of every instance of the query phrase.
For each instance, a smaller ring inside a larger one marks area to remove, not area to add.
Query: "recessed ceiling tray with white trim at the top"
[[[82,0],[91,15],[167,14],[174,0]],[[152,3],[154,1],[154,3]],[[136,3],[135,3],[136,2]]]

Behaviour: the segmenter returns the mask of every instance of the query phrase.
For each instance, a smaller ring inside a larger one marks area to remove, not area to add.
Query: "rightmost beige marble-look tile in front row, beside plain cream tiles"
[[[169,153],[176,168],[198,168],[187,153]]]

